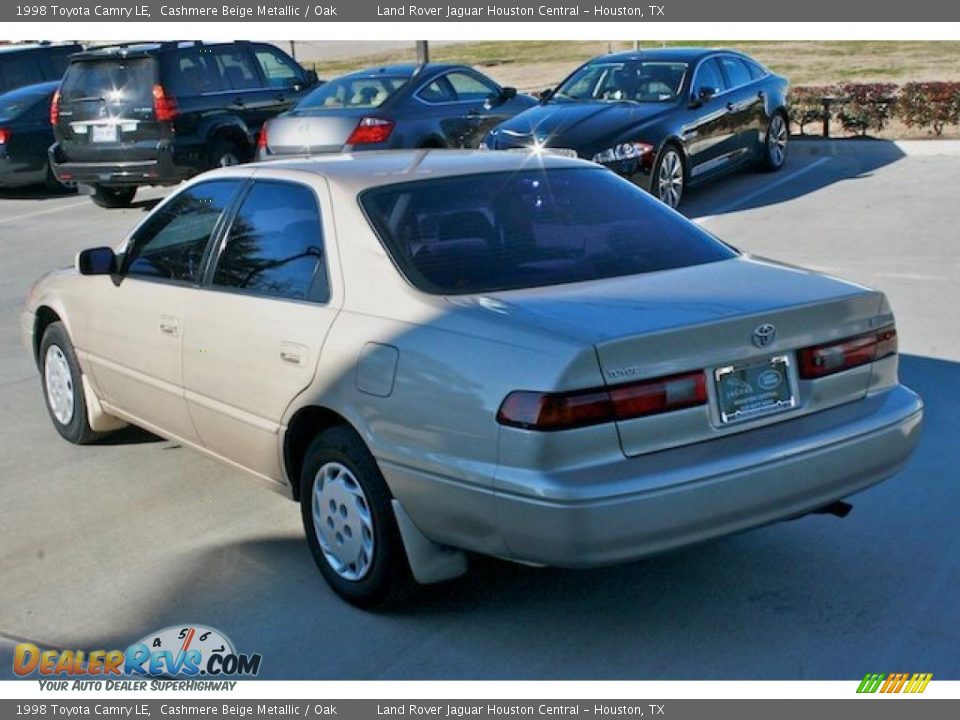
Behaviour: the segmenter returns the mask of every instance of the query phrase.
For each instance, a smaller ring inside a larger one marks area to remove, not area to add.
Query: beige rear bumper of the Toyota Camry
[[[512,559],[587,567],[796,517],[893,475],[910,457],[922,418],[920,398],[896,386],[697,449],[579,468],[562,479],[544,477],[531,495],[496,494],[502,541]],[[575,481],[577,473],[608,473],[621,487],[632,474],[636,492],[573,501],[550,497],[549,488]]]

